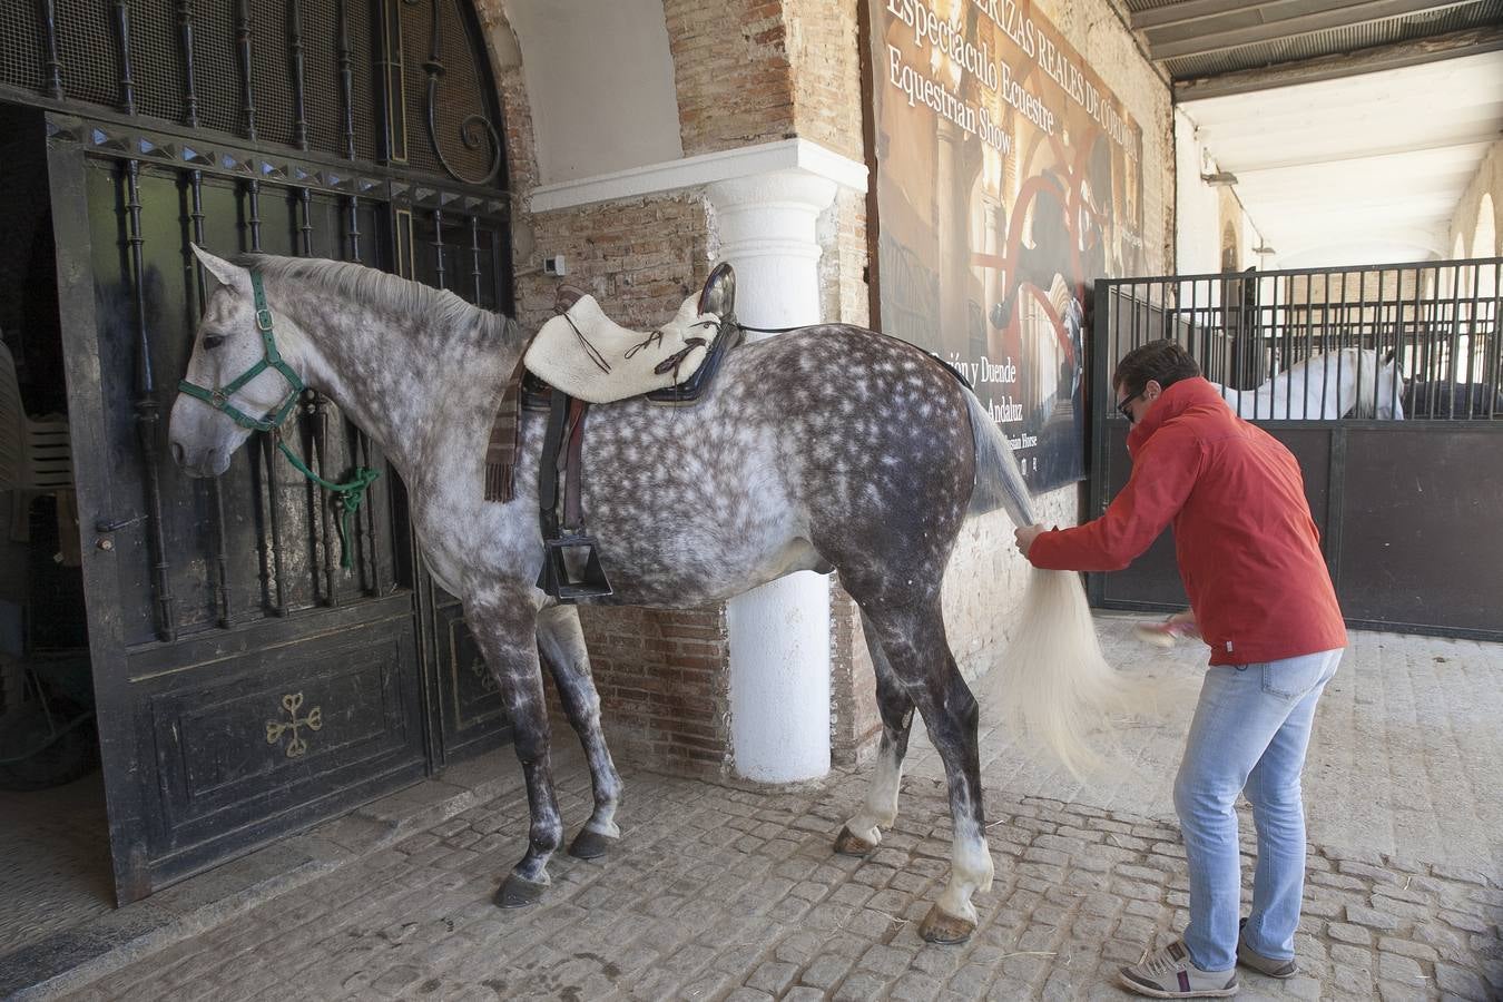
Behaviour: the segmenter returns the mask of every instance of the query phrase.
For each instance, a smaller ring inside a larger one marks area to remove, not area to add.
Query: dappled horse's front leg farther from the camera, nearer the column
[[[538,614],[538,653],[553,673],[564,714],[585,745],[589,780],[595,790],[595,811],[574,837],[568,852],[580,859],[594,859],[603,856],[610,843],[621,837],[615,820],[621,804],[621,777],[616,775],[606,735],[600,729],[600,696],[589,673],[589,652],[585,649],[577,607],[555,605]]]

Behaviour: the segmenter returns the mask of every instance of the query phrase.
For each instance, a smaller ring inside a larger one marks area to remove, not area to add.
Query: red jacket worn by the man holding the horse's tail
[[[1174,523],[1174,553],[1211,664],[1347,646],[1300,466],[1204,379],[1174,383],[1127,436],[1132,476],[1106,514],[1034,539],[1057,571],[1120,571]]]

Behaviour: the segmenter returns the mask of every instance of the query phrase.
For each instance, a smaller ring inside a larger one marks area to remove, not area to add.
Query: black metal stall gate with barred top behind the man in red
[[[1503,640],[1500,279],[1503,260],[1489,258],[1096,282],[1088,515],[1130,473],[1111,373],[1172,338],[1213,382],[1279,388],[1244,397],[1244,416],[1299,458],[1350,625]],[[1342,349],[1372,353],[1348,373],[1402,419],[1321,415],[1282,379]],[[1396,370],[1381,368],[1390,352]],[[1126,571],[1093,574],[1091,602],[1183,608],[1171,535]]]

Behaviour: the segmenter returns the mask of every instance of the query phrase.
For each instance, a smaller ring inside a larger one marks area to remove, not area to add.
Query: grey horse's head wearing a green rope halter
[[[188,371],[173,404],[168,440],[189,476],[218,476],[251,431],[269,431],[287,418],[302,379],[281,352],[296,327],[272,314],[259,275],[192,248],[218,281],[194,333]]]

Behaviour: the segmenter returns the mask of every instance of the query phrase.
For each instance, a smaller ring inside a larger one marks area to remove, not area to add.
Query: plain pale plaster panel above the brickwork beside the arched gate
[[[538,183],[684,156],[663,0],[504,0],[523,53]]]

